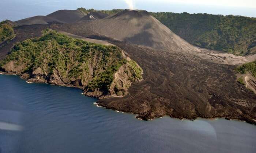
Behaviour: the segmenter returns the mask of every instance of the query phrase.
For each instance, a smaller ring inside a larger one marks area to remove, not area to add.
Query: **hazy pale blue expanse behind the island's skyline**
[[[256,0],[1,0],[0,20],[47,15],[59,9],[143,9],[256,17]]]

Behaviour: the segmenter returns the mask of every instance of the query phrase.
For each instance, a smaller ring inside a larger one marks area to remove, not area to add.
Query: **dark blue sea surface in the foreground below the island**
[[[97,107],[82,90],[0,75],[0,153],[255,153],[256,126],[240,121],[140,121]]]

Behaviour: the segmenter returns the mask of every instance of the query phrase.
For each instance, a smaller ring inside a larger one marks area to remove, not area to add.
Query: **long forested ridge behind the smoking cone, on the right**
[[[151,15],[191,44],[242,56],[256,53],[256,18],[187,12]]]

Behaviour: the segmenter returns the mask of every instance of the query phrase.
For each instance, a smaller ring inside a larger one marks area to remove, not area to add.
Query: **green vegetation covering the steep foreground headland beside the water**
[[[42,33],[42,37],[16,44],[11,54],[0,61],[0,68],[4,69],[4,65],[14,61],[15,67],[22,69],[17,73],[31,73],[40,68],[41,75],[49,77],[57,70],[66,82],[79,79],[91,90],[106,91],[113,82],[114,73],[128,63],[116,46],[89,43],[50,29]],[[141,77],[138,66],[134,66],[136,63],[133,61],[132,64],[136,76]]]

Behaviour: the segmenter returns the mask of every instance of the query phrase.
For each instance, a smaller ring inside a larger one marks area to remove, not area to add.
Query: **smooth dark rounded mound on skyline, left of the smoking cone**
[[[64,23],[72,23],[75,21],[78,21],[82,17],[84,17],[86,14],[82,11],[76,10],[59,10],[53,13],[50,13],[49,17],[52,17],[54,19],[60,20]]]

